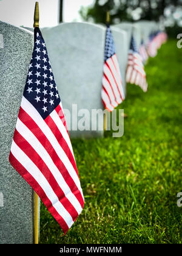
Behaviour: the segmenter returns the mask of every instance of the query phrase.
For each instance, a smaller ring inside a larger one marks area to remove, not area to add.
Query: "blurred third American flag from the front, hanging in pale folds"
[[[137,50],[135,39],[131,38],[129,57],[126,69],[126,82],[139,85],[143,91],[147,91],[146,73],[141,56]]]

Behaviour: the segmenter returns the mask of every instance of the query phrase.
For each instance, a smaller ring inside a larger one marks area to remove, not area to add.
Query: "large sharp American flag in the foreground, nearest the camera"
[[[9,160],[66,233],[83,210],[84,196],[61,99],[38,28]]]

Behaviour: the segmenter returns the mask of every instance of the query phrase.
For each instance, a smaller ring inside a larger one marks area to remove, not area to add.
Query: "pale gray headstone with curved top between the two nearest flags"
[[[102,137],[92,110],[103,110],[101,87],[106,28],[89,23],[62,23],[41,29],[70,137]],[[89,114],[81,130],[80,120]],[[96,130],[91,129],[95,127]],[[87,129],[87,130],[86,130]]]

